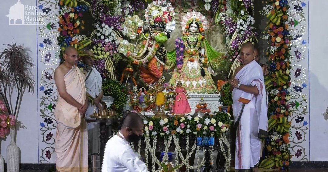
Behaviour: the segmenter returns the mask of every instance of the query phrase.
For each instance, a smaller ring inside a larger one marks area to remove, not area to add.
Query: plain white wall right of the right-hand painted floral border
[[[310,161],[328,161],[328,121],[323,116],[328,107],[327,7],[327,0],[309,1]]]

